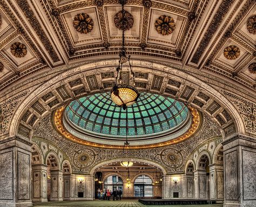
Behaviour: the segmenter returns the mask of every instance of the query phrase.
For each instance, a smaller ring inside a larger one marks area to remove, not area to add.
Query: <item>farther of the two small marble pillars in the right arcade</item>
[[[206,170],[194,170],[194,198],[207,199]]]

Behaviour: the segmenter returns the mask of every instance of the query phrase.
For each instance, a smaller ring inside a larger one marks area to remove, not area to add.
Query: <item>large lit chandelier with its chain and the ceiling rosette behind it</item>
[[[133,25],[133,17],[132,15],[124,10],[124,4],[126,3],[125,0],[120,0],[120,4],[122,4],[122,11],[119,11],[114,16],[114,23],[118,27],[118,29],[123,31],[122,35],[122,50],[119,53],[119,65],[117,67],[117,78],[116,82],[111,90],[111,99],[113,100],[116,105],[123,107],[125,110],[127,106],[132,105],[137,101],[139,98],[139,93],[137,91],[134,75],[135,73],[132,72],[132,66],[130,63],[130,56],[127,57],[125,53],[124,47],[124,31],[129,30]],[[126,82],[122,78],[122,69],[123,64],[129,63],[129,73],[131,74],[131,79],[129,78]],[[131,84],[130,84],[131,82]]]

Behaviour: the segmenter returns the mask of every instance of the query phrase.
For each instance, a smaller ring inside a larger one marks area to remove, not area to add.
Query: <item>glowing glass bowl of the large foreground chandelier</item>
[[[111,91],[111,99],[124,109],[137,101],[139,93],[136,88],[125,85],[115,85]]]

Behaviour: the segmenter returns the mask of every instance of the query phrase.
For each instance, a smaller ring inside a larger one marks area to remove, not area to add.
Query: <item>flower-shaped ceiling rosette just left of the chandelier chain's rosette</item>
[[[78,13],[74,17],[73,26],[78,32],[87,34],[93,29],[93,20],[87,13]]]

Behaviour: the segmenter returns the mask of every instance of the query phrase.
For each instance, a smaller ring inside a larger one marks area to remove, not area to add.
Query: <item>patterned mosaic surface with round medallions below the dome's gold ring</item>
[[[220,128],[208,116],[204,116],[203,128],[191,139],[173,144],[172,146],[131,149],[126,156],[157,162],[166,168],[168,173],[183,172],[187,157],[197,148],[198,144],[209,137],[219,135]],[[55,147],[59,150],[65,149],[66,156],[72,161],[73,172],[88,173],[93,165],[99,162],[122,157],[122,149],[84,146],[65,139],[53,129],[50,115],[36,123],[33,136],[43,137],[44,142],[54,143]]]

